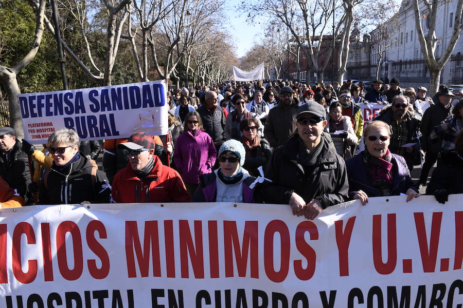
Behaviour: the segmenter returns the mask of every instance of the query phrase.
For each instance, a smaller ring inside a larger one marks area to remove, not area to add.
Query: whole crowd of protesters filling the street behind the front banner
[[[71,129],[43,150],[0,128],[2,207],[30,204],[246,202],[290,205],[314,219],[371,197],[463,192],[463,100],[441,85],[365,90],[351,80],[222,83],[167,93],[169,133],[80,141]],[[361,105],[384,105],[365,126]],[[365,126],[365,129],[364,129]],[[364,149],[359,150],[363,139]],[[95,162],[101,148],[102,170]],[[411,171],[423,160],[414,182]],[[437,162],[428,185],[431,168]]]

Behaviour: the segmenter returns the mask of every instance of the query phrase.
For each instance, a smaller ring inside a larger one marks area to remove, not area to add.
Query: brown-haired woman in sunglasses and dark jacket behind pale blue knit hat
[[[240,130],[243,134],[241,143],[246,151],[244,168],[253,177],[259,176],[257,168],[264,165],[272,156],[269,142],[265,138],[257,136],[258,127],[259,122],[253,118],[244,119],[240,123]]]

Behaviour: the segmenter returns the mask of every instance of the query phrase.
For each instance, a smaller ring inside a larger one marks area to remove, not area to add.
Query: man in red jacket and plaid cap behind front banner
[[[190,196],[179,172],[164,166],[154,155],[154,139],[137,132],[118,148],[126,152],[127,166],[113,179],[112,197],[118,203],[189,202]]]

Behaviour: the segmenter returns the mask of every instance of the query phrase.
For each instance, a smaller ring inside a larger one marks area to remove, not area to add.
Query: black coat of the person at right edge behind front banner
[[[440,152],[426,194],[432,195],[440,189],[448,190],[449,194],[463,194],[463,157],[455,150]]]

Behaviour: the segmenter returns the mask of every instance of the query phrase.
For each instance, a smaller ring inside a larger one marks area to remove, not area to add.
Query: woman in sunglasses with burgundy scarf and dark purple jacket
[[[346,162],[349,197],[365,205],[368,197],[406,194],[406,201],[420,196],[405,159],[389,151],[392,132],[383,121],[373,121],[364,131],[365,150]]]

